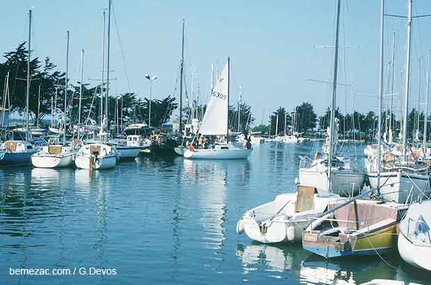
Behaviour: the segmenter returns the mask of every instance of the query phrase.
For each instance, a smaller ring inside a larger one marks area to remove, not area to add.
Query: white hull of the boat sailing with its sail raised
[[[188,159],[245,159],[252,149],[187,149],[184,158]]]

